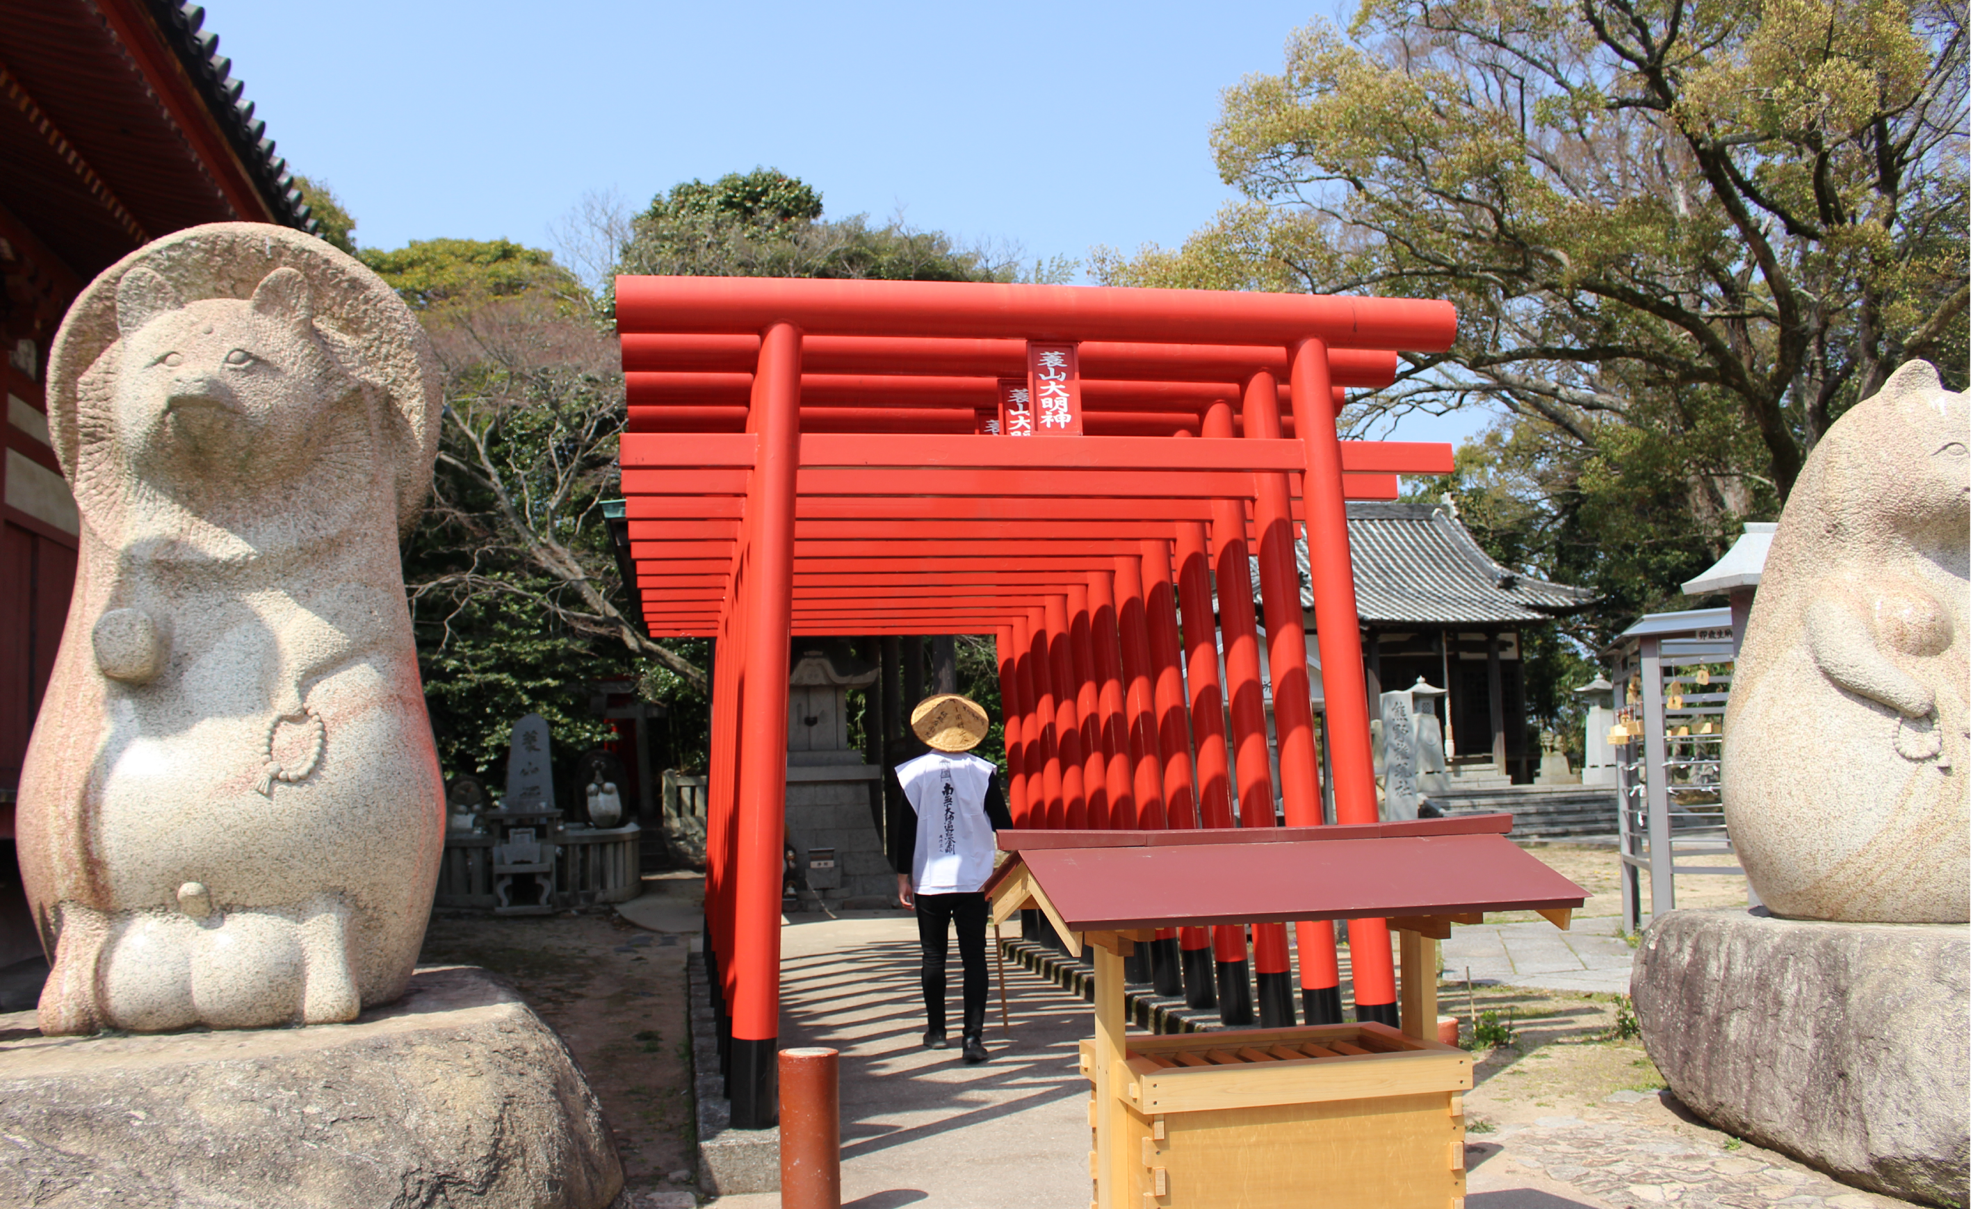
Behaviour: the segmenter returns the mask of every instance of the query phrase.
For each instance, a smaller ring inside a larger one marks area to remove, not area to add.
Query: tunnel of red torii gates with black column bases
[[[1449,303],[617,278],[617,329],[645,622],[717,638],[706,953],[735,1126],[777,1118],[796,634],[993,634],[1021,827],[1232,827],[1232,784],[1240,823],[1269,827],[1256,551],[1285,821],[1319,825],[1305,522],[1336,819],[1376,821],[1344,500],[1395,498],[1399,473],[1451,471],[1451,447],[1348,443],[1334,419],[1342,388],[1393,378],[1395,350],[1451,345]],[[1074,349],[1082,439],[980,435],[1033,372],[1031,345]],[[1338,1020],[1332,925],[1295,927],[1303,1006]],[[1240,1000],[1244,929],[1216,931],[1216,979]],[[1192,983],[1208,945],[1187,929]],[[1388,927],[1352,922],[1350,953],[1358,1018],[1393,1024]],[[1254,929],[1254,957],[1261,1022],[1291,1024],[1281,923]]]

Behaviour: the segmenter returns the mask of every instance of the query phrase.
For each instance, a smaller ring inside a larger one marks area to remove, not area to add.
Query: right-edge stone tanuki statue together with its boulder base
[[[1725,713],[1752,912],[1669,912],[1632,979],[1709,1120],[1963,1205],[1971,415],[1908,362],[1829,427],[1772,536]]]

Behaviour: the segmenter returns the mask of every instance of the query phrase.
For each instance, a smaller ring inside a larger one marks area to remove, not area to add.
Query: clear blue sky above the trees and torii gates
[[[1208,144],[1220,91],[1277,71],[1297,26],[1352,16],[1346,0],[205,6],[280,154],[335,189],[363,246],[552,246],[583,193],[641,205],[769,165],[830,217],[903,215],[1027,258],[1181,242],[1232,197]]]

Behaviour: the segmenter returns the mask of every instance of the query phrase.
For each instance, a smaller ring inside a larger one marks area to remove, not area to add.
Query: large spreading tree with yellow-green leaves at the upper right
[[[1593,650],[1679,606],[1902,360],[1963,382],[1963,112],[1961,12],[1932,0],[1368,0],[1226,93],[1244,199],[1096,272],[1455,301],[1451,352],[1350,423],[1498,408],[1429,494],[1593,585]]]

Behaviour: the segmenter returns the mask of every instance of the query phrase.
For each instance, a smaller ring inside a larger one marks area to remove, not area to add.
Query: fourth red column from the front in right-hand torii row
[[[1230,827],[1232,770],[1226,754],[1226,699],[1218,681],[1218,620],[1212,616],[1212,571],[1204,526],[1194,520],[1177,526],[1177,601],[1185,610],[1198,821],[1204,827]],[[1200,931],[1204,929],[1187,927],[1179,935],[1185,945],[1185,1002],[1192,1008],[1210,1008],[1218,1004],[1218,983],[1246,985],[1246,929],[1236,923],[1214,927],[1210,957],[1196,947]]]

